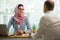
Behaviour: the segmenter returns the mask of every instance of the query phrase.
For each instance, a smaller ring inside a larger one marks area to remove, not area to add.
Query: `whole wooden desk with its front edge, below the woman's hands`
[[[29,35],[25,34],[25,36],[0,36],[0,40],[32,40],[32,38]]]

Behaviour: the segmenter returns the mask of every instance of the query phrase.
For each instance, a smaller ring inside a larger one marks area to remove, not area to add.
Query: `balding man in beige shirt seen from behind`
[[[60,18],[57,14],[53,12],[54,1],[45,1],[44,3],[44,13],[42,16],[39,28],[34,39],[40,40],[60,40]]]

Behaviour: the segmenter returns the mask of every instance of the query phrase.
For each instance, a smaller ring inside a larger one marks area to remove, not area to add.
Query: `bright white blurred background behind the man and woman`
[[[25,8],[25,16],[29,18],[31,27],[35,24],[38,28],[39,20],[44,15],[43,5],[45,0],[0,0],[0,24],[8,24],[10,18],[14,15],[15,7],[21,3]],[[60,16],[60,0],[55,2],[54,12]],[[14,32],[13,27],[10,33]]]

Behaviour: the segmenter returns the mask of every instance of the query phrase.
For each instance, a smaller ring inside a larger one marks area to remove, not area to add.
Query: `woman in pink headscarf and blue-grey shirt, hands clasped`
[[[15,15],[11,17],[8,23],[8,30],[11,25],[13,25],[15,33],[23,34],[31,31],[29,20],[24,16],[24,6],[22,4],[19,4],[15,8]],[[27,30],[25,30],[25,28],[27,28]]]

